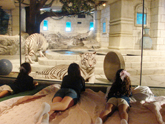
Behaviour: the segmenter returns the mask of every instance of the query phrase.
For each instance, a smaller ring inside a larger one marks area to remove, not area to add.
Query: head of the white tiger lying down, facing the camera
[[[81,62],[80,65],[82,68],[94,68],[96,65],[96,52],[88,52],[80,54]]]

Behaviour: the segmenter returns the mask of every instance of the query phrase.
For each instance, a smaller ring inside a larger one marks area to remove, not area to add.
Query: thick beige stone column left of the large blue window
[[[132,0],[114,0],[110,5],[110,49],[133,49],[134,6]]]

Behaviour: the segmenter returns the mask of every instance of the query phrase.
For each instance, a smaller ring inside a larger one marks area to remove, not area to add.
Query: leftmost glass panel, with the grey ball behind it
[[[20,65],[19,9],[11,11],[2,8],[0,7],[0,77],[15,78]],[[24,54],[24,47],[21,50]]]

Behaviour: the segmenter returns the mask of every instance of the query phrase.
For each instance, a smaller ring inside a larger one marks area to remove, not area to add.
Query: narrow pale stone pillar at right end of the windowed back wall
[[[100,43],[100,19],[101,19],[101,11],[97,10],[94,13],[94,27],[96,39]]]

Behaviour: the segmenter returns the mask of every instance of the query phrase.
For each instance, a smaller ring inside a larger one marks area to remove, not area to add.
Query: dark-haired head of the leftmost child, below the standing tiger
[[[28,62],[22,63],[20,67],[20,73],[21,74],[29,74],[31,72],[31,66]]]

